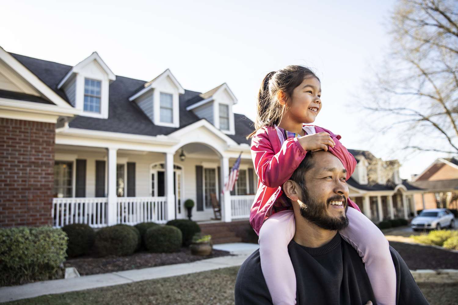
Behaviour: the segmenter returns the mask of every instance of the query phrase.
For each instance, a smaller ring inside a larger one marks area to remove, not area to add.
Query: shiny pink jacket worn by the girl
[[[325,131],[333,138],[336,146],[329,148],[329,151],[344,164],[348,180],[356,166],[354,156],[340,143],[340,135],[318,126],[315,126],[315,130],[316,133]],[[281,144],[283,138],[280,139],[280,136],[277,128],[265,126],[251,140],[251,157],[259,180],[256,197],[251,206],[250,224],[258,235],[264,220],[275,213],[272,209],[273,203],[283,194],[283,183],[288,181],[307,153],[297,138],[287,139]],[[348,205],[360,211],[350,199]]]

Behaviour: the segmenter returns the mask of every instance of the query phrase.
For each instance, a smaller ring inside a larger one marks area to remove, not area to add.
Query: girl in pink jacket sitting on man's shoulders
[[[339,135],[304,124],[313,123],[321,111],[320,96],[318,77],[299,65],[267,74],[258,94],[256,131],[249,137],[259,183],[250,223],[259,235],[262,273],[273,304],[296,303],[296,279],[287,248],[294,237],[294,213],[282,192],[283,183],[308,151],[339,151],[339,159],[347,163],[347,180],[356,165]],[[393,305],[396,273],[388,241],[353,201],[348,199],[347,204],[349,226],[339,233],[365,263],[377,304]]]

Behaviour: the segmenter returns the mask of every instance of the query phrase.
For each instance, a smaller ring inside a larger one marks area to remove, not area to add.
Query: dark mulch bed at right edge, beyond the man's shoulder
[[[410,270],[458,269],[458,253],[430,246],[411,245],[390,241]]]

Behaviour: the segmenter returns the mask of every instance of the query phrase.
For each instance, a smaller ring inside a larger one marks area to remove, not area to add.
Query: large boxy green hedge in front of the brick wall
[[[59,278],[67,239],[47,226],[0,229],[0,286]]]

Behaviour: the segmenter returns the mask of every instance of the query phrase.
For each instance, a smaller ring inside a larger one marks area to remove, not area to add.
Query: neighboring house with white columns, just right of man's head
[[[382,161],[369,151],[349,150],[358,162],[347,181],[349,195],[374,222],[416,216],[415,194],[422,190],[399,177],[397,160]]]

